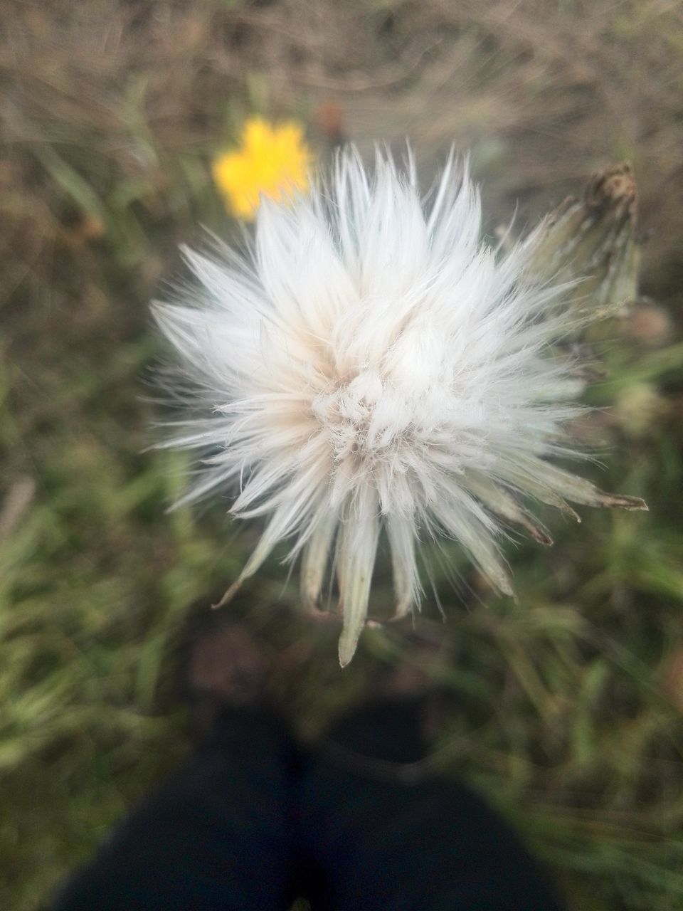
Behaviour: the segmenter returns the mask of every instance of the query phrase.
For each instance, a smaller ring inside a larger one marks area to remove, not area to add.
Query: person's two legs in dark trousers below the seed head
[[[262,708],[264,668],[244,630],[201,636],[190,658],[209,736],[51,911],[286,911],[296,894],[313,911],[560,907],[505,824],[421,766],[423,702],[395,697],[401,669],[301,763]]]

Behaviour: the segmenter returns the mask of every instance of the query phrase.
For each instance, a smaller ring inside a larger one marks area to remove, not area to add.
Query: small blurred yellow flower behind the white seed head
[[[253,219],[260,194],[281,200],[292,191],[309,188],[311,151],[303,130],[292,121],[270,124],[252,118],[245,124],[240,148],[219,155],[213,178],[226,198],[226,206],[243,219]]]

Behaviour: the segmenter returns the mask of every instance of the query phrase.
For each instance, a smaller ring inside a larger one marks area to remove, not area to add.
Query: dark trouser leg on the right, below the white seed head
[[[313,911],[557,911],[532,858],[478,796],[392,773],[389,763],[423,757],[419,711],[357,711],[331,732],[338,747],[309,761],[301,841],[322,877]],[[375,760],[364,772],[359,753]]]

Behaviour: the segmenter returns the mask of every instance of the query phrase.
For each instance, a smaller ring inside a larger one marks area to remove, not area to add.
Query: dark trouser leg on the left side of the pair
[[[291,744],[226,711],[187,768],[121,824],[53,911],[286,911]]]

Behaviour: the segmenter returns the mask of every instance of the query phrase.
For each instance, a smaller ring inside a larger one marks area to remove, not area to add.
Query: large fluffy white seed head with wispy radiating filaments
[[[307,606],[336,575],[342,665],[382,531],[403,616],[420,538],[456,539],[512,594],[504,527],[551,543],[522,500],[644,507],[548,461],[577,410],[551,348],[573,319],[566,288],[526,274],[533,238],[499,255],[480,236],[466,169],[450,162],[425,201],[411,164],[378,153],[371,174],[348,149],[310,196],[262,201],[243,255],[186,251],[197,287],[155,305],[194,412],[166,444],[198,451],[186,499],[233,491],[234,516],[267,517],[226,599],[289,539]]]

